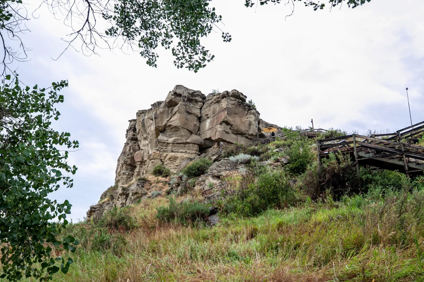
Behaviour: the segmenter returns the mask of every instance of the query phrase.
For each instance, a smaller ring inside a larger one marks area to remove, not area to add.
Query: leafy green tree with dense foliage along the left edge
[[[67,85],[61,81],[47,89],[21,87],[17,76],[10,75],[0,85],[0,278],[8,281],[23,276],[50,279],[59,271],[52,248],[75,252],[78,244],[72,236],[57,241],[61,226],[68,223],[70,203],[47,198],[61,184],[72,187],[69,174],[76,171],[66,162],[66,149],[78,147],[78,142],[50,127],[60,115],[55,105],[64,99],[58,91]],[[66,273],[72,259],[58,260]]]

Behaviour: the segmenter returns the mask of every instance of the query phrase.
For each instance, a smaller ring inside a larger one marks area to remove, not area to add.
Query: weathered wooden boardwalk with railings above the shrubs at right
[[[395,133],[358,134],[317,140],[318,172],[321,176],[322,158],[331,152],[347,154],[353,160],[359,176],[359,166],[396,170],[408,177],[422,175],[424,171],[424,147],[416,146],[424,133],[424,122],[402,128]]]

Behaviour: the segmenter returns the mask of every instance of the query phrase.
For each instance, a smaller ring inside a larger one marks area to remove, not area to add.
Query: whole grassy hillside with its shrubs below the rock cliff
[[[424,178],[363,168],[362,190],[349,190],[358,184],[349,160],[332,155],[318,177],[314,149],[298,135],[235,145],[223,153],[244,164],[222,177],[232,196],[204,204],[188,185],[68,225],[63,235],[81,244],[54,280],[424,281]],[[177,178],[190,182],[167,180]],[[214,227],[202,219],[211,205]]]

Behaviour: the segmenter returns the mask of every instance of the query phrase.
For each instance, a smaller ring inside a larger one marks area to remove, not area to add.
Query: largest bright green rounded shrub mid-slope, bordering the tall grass
[[[244,178],[248,179],[248,176]],[[266,170],[223,203],[223,211],[240,216],[255,216],[273,207],[293,205],[296,195],[283,170]]]

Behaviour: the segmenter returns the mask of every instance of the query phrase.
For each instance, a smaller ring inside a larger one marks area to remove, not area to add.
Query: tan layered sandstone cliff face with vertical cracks
[[[200,91],[175,86],[165,101],[138,111],[136,119],[129,121],[117,160],[115,189],[102,194],[87,218],[100,217],[114,206],[146,197],[145,183],[140,179],[151,174],[156,165],[179,172],[200,157],[214,161],[220,154],[220,142],[250,144],[254,138],[265,137],[262,128],[268,126],[237,90],[206,97]]]

